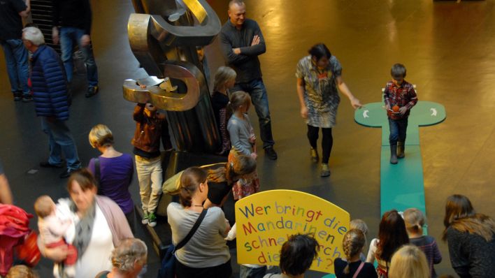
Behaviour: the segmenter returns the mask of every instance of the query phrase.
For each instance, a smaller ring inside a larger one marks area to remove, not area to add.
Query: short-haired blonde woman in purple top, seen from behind
[[[130,154],[122,154],[113,148],[113,135],[108,126],[96,124],[89,131],[89,144],[101,152],[99,177],[96,175],[96,159],[91,159],[88,170],[96,178],[98,194],[112,199],[124,212],[131,230],[134,232],[134,203],[129,186],[134,175],[134,163]]]

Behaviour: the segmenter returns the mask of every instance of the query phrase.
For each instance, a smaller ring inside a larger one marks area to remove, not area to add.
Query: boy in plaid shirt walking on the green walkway
[[[392,81],[387,82],[383,100],[389,117],[390,163],[397,164],[397,158],[404,155],[404,142],[408,129],[410,109],[417,103],[417,95],[412,84],[404,80],[406,67],[394,64],[390,70]]]

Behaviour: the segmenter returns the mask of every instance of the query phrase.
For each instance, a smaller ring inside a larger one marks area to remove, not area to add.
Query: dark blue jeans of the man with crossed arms
[[[244,91],[250,94],[254,110],[258,115],[259,133],[263,141],[263,148],[271,147],[275,144],[271,134],[270,108],[268,107],[268,94],[261,78],[245,83],[236,83],[230,92]]]

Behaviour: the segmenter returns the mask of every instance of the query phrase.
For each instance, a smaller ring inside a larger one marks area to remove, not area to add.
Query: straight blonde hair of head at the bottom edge
[[[429,278],[430,270],[424,252],[412,244],[397,250],[390,263],[389,278]]]

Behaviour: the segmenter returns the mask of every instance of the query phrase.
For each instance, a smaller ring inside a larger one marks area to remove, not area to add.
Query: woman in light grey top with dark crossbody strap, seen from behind
[[[203,212],[208,196],[206,177],[206,171],[198,167],[187,168],[180,177],[180,204],[170,203],[167,207],[174,245],[186,237]],[[176,277],[230,277],[230,252],[224,240],[229,230],[220,207],[208,209],[196,233],[184,247],[175,251]]]

